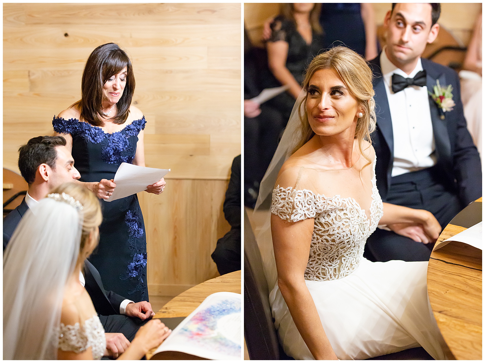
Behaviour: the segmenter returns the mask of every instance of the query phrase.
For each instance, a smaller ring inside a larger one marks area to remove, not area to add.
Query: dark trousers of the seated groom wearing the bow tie
[[[387,203],[425,209],[436,217],[441,228],[462,209],[453,190],[440,183],[436,167],[394,176]],[[364,257],[371,261],[428,261],[434,243],[423,244],[391,231],[376,229],[367,239]]]

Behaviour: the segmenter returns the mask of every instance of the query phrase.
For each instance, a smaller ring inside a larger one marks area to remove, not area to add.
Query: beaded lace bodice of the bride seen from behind
[[[91,347],[93,359],[101,359],[106,349],[104,329],[97,315],[84,320],[82,327],[79,323],[74,325],[61,323],[58,337],[59,349],[82,353]]]

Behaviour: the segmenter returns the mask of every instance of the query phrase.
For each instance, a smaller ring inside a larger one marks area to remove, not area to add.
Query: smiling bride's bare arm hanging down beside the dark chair
[[[271,215],[278,286],[291,317],[315,359],[337,360],[305,284],[314,219],[287,222]]]

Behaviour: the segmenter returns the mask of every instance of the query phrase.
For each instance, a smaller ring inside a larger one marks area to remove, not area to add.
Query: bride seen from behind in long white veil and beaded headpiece
[[[3,359],[101,359],[103,326],[79,281],[101,219],[95,195],[74,183],[24,215],[3,254]],[[120,358],[141,359],[168,334],[149,321]]]

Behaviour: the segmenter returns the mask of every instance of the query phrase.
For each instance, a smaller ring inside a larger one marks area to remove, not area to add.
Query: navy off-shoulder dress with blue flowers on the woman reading
[[[138,134],[145,117],[121,131],[105,133],[101,128],[77,119],[56,118],[54,131],[72,136],[72,156],[83,182],[113,179],[122,162],[135,157]],[[147,300],[146,234],[136,194],[112,202],[99,200],[103,222],[99,244],[89,261],[101,275],[104,288],[135,302]]]

